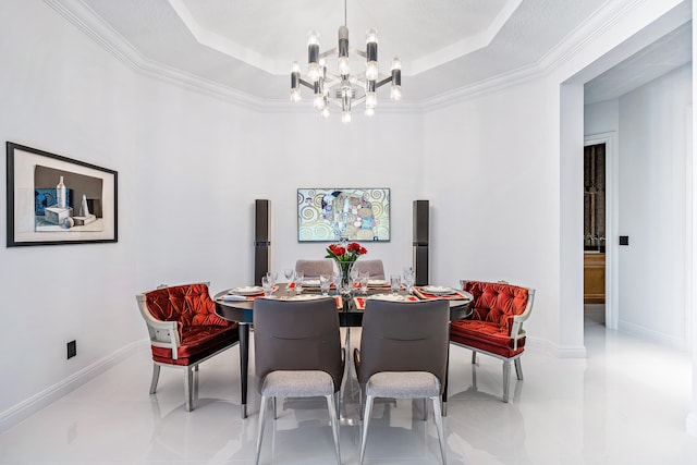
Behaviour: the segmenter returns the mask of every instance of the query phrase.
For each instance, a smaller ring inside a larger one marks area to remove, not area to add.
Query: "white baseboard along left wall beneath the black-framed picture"
[[[107,371],[109,368],[123,360],[133,352],[138,351],[142,347],[146,347],[147,342],[147,340],[132,342],[125,347],[118,350],[113,354],[95,362],[94,364],[83,368],[82,370],[63,379],[62,381],[57,382],[56,384],[45,389],[44,391],[38,392],[37,394],[26,399],[25,401],[14,405],[13,407],[0,413],[0,432],[25,420],[41,408],[45,408],[46,406],[61,399],[63,395],[74,391],[89,380]]]

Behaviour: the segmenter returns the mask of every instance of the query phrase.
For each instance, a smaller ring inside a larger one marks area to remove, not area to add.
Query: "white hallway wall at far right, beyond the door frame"
[[[690,102],[692,65],[620,98],[619,233],[629,236],[620,247],[620,328],[678,347],[686,347]]]

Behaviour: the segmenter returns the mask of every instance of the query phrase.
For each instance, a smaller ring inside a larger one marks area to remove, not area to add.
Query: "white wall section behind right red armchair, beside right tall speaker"
[[[432,210],[436,282],[506,280],[537,290],[529,334],[555,340],[559,224],[555,154],[545,148],[552,115],[540,82],[426,115],[426,191]]]

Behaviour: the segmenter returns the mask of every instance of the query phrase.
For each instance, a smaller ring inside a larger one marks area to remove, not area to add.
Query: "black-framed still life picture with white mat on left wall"
[[[7,246],[118,242],[118,173],[7,143]]]

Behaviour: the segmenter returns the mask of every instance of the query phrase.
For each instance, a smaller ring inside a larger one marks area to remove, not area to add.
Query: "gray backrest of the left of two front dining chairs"
[[[259,387],[276,370],[321,370],[341,388],[343,363],[337,302],[331,298],[254,302],[254,351]]]

